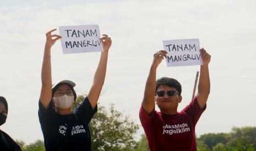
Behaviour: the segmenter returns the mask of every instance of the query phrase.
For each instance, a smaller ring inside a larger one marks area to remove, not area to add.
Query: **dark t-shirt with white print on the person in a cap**
[[[88,124],[97,106],[92,109],[88,97],[69,115],[61,115],[53,109],[52,101],[44,108],[39,101],[39,121],[46,150],[91,150]]]

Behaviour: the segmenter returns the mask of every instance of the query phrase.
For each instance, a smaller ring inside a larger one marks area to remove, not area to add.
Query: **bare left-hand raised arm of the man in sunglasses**
[[[150,67],[149,76],[146,80],[144,97],[142,106],[146,113],[150,115],[155,108],[155,93],[156,93],[156,69],[162,60],[167,57],[167,52],[164,50],[158,51],[154,54],[154,59]]]

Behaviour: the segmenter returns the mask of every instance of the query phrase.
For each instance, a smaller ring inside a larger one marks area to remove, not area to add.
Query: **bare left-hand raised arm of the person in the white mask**
[[[52,73],[51,73],[51,47],[55,42],[61,38],[57,34],[51,34],[56,29],[46,33],[45,52],[43,53],[43,63],[41,71],[41,95],[40,101],[43,107],[48,108],[48,105],[52,98]]]

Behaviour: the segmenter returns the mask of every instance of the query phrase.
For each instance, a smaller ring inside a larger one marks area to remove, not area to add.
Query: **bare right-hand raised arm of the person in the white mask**
[[[88,94],[88,98],[93,109],[96,107],[96,104],[100,97],[102,86],[105,81],[108,49],[110,49],[110,46],[112,44],[112,40],[110,37],[108,37],[106,34],[103,34],[102,36],[104,36],[101,38],[101,42],[103,44],[103,52],[101,52],[100,62],[94,74],[94,80]]]

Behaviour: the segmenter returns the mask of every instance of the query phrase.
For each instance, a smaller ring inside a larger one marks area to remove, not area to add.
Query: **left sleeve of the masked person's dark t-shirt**
[[[48,125],[51,124],[54,112],[55,111],[53,109],[52,101],[49,103],[48,108],[43,107],[43,104],[41,103],[41,101],[39,101],[38,116],[43,133],[45,133],[45,131],[47,131],[50,128]]]

